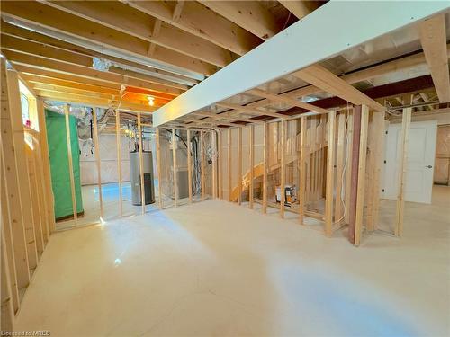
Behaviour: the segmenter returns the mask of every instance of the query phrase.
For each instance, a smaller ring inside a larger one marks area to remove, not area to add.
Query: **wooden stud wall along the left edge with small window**
[[[14,328],[23,294],[55,228],[43,104],[29,97],[39,131],[23,125],[19,78],[1,62],[1,329]]]

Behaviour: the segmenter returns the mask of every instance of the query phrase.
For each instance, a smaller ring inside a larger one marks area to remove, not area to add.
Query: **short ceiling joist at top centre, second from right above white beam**
[[[273,37],[283,28],[278,26],[274,15],[258,1],[200,2],[263,40]]]

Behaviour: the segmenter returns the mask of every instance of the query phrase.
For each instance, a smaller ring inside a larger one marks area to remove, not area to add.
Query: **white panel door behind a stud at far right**
[[[431,203],[437,120],[411,122],[408,136],[405,200]],[[397,199],[401,123],[391,124],[386,135],[382,198]]]

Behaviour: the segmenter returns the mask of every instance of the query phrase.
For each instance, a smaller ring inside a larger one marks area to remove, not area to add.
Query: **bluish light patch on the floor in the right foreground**
[[[274,266],[275,287],[299,318],[320,317],[325,329],[333,331],[333,335],[423,335],[406,321],[405,317],[411,316],[408,310],[401,307],[392,311],[386,305],[390,296],[383,289],[358,284],[356,279],[348,279],[346,273],[335,274],[336,278],[325,277],[317,267],[311,267],[306,261],[302,267],[279,262]]]

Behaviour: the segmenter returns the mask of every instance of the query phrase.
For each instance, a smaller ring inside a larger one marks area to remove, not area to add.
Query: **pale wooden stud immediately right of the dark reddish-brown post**
[[[383,167],[384,151],[384,114],[385,112],[374,112],[374,139],[376,139],[374,154],[374,230],[377,229],[380,213],[380,180]]]

